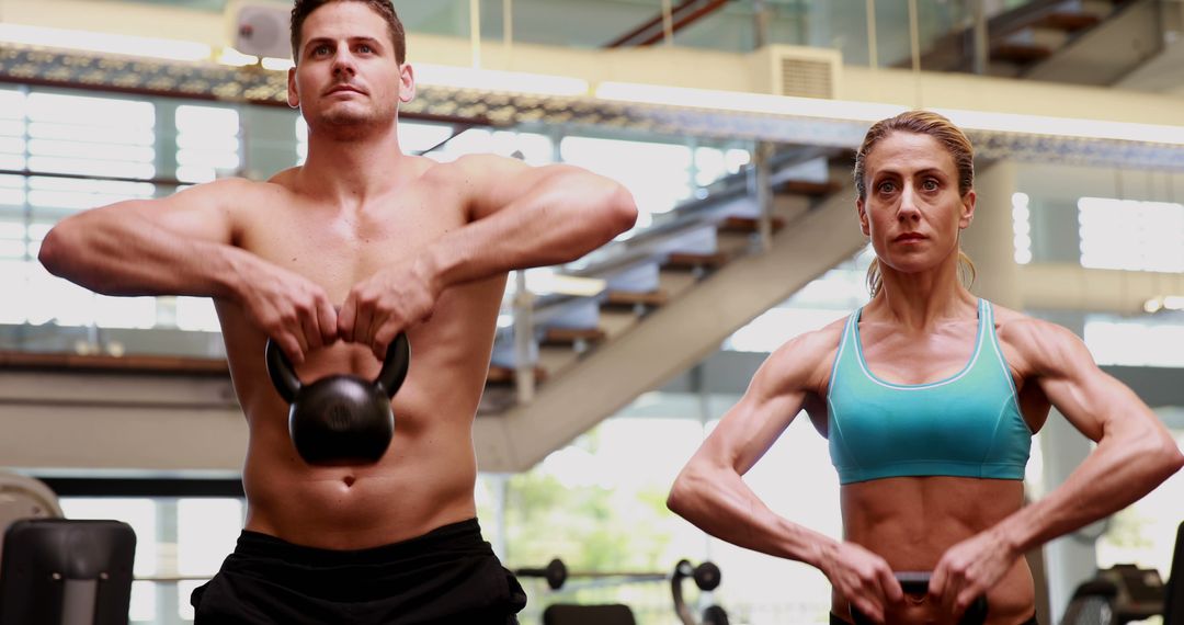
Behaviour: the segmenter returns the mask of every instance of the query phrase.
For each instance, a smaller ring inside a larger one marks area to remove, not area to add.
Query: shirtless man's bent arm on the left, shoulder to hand
[[[294,362],[336,340],[336,312],[309,279],[234,246],[234,205],[258,193],[220,180],[62,220],[38,256],[53,275],[104,295],[214,297],[243,308]]]

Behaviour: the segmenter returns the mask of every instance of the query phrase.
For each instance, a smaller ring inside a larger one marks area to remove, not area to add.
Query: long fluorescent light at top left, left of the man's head
[[[210,60],[213,56],[210,46],[194,41],[43,28],[20,24],[0,24],[0,41],[169,60]]]

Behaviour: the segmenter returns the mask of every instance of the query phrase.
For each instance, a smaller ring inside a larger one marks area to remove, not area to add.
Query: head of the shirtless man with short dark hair
[[[362,131],[393,122],[414,97],[411,66],[399,65],[386,21],[363,2],[329,2],[304,21],[288,103],[309,127]]]

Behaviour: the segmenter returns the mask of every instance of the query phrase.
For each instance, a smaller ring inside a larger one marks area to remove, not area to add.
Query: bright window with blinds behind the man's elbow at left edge
[[[36,260],[62,218],[155,193],[154,124],[154,107],[143,101],[0,90],[0,167],[13,170],[0,175],[0,289],[11,295],[0,323],[155,323],[150,298],[97,296]]]

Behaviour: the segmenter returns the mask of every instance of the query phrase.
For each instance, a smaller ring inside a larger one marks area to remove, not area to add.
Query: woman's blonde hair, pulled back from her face
[[[868,196],[868,186],[864,181],[864,168],[868,154],[875,149],[881,140],[893,133],[912,133],[915,135],[929,135],[938,141],[954,159],[954,167],[958,169],[958,194],[965,196],[974,188],[974,148],[965,133],[946,117],[932,111],[910,110],[895,117],[881,120],[868,129],[863,137],[860,150],[855,153],[855,189],[860,199]],[[966,288],[974,283],[977,275],[974,263],[961,250],[958,251],[958,275]],[[880,273],[880,259],[873,258],[868,266],[868,290],[871,297],[880,292],[883,277]]]

